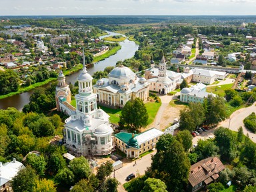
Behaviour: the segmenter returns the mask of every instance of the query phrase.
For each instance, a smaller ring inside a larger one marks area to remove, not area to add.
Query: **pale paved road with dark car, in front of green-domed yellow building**
[[[154,155],[156,151],[153,151],[153,153],[149,153],[148,155],[145,155],[141,159],[136,160],[136,165],[135,161],[128,163],[124,167],[121,167],[120,169],[117,169],[115,171],[115,178],[121,183],[126,183],[125,179],[126,177],[134,173],[136,176],[139,175],[144,175],[145,170],[147,170],[147,167],[150,167],[151,165],[151,155]],[[111,174],[111,177],[114,176],[114,173]]]

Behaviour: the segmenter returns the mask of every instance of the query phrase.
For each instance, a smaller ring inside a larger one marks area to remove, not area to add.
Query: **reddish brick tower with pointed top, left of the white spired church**
[[[58,84],[56,86],[55,92],[55,101],[57,111],[60,110],[59,102],[68,102],[71,103],[71,91],[69,85],[66,83],[65,75],[63,71],[60,69],[58,76]]]

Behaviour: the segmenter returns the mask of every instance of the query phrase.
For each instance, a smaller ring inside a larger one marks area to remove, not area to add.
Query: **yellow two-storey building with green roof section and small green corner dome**
[[[156,128],[151,128],[141,134],[119,132],[115,134],[114,142],[116,148],[123,151],[127,157],[135,158],[155,148],[161,135],[163,132]]]

